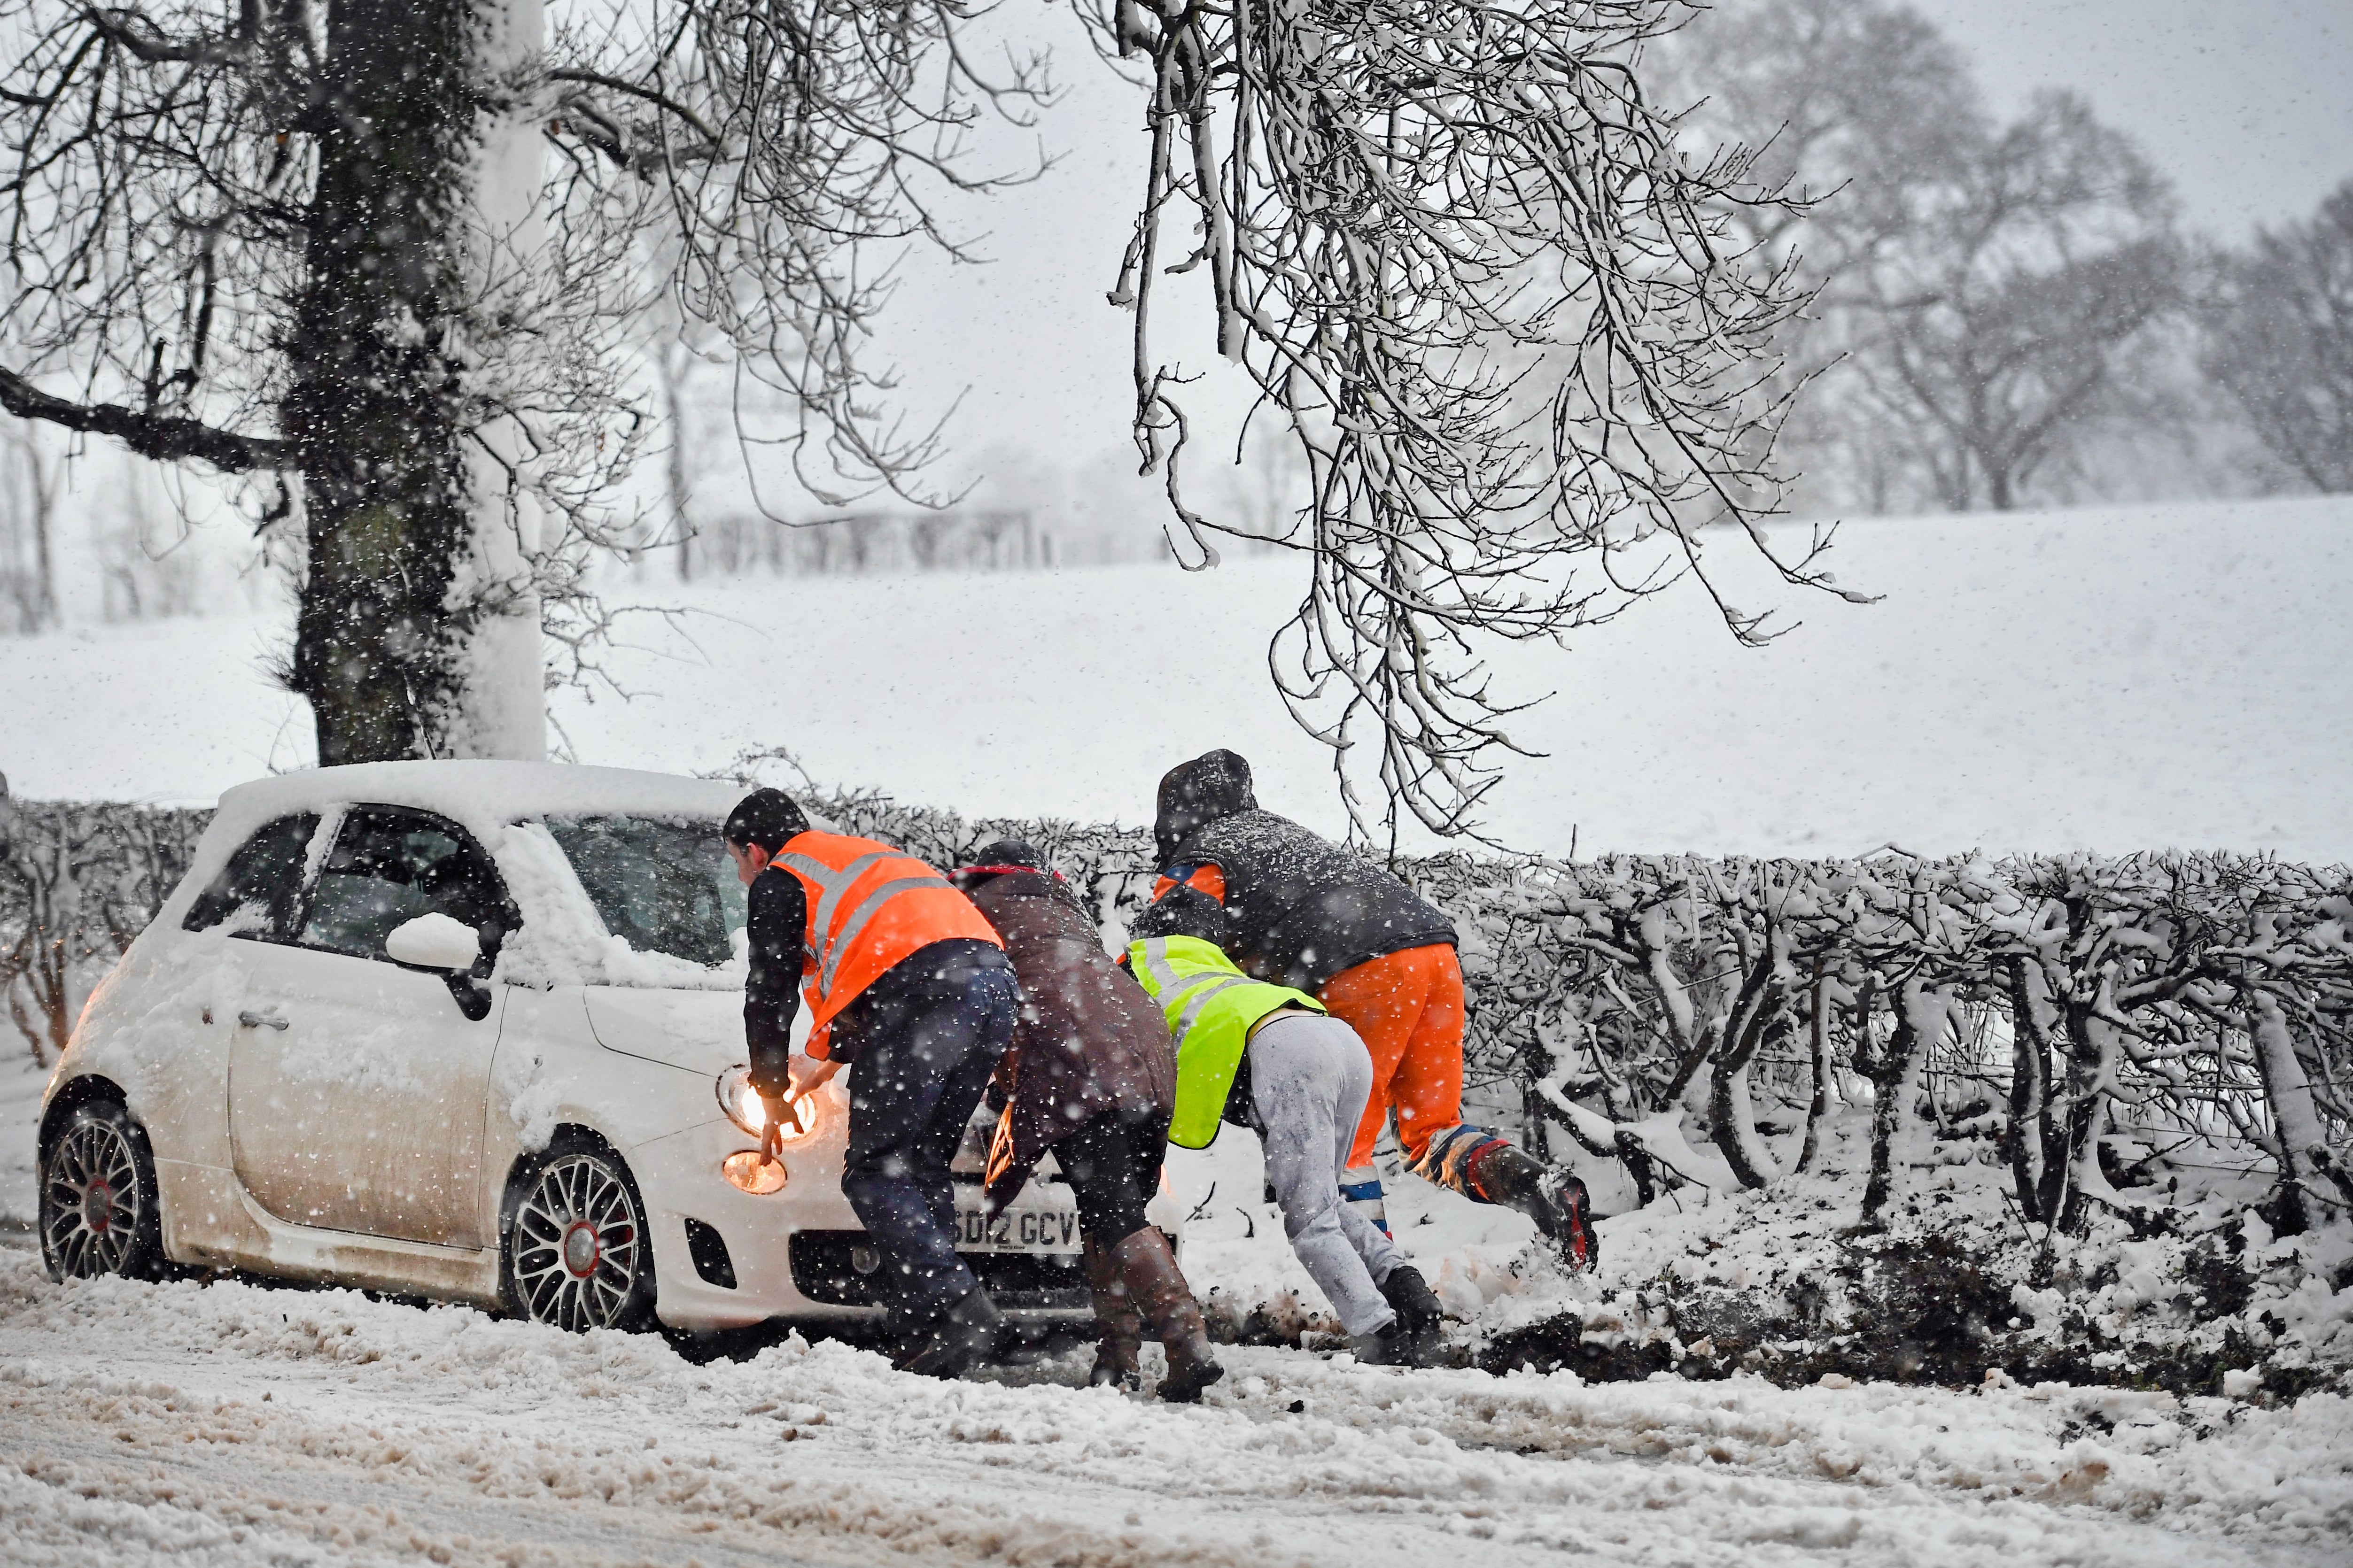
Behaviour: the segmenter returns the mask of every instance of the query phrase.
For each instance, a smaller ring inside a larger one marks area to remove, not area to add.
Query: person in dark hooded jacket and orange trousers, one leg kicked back
[[[1155,929],[1214,940],[1365,1039],[1374,1084],[1344,1173],[1351,1204],[1388,1227],[1372,1145],[1395,1112],[1417,1175],[1527,1213],[1572,1267],[1591,1265],[1584,1182],[1464,1121],[1468,1011],[1445,914],[1365,856],[1261,811],[1249,764],[1228,750],[1160,778],[1153,839]]]

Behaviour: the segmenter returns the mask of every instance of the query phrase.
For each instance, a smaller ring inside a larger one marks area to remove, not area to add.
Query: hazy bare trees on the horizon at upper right
[[[2202,240],[2085,99],[2002,120],[1887,0],[1729,0],[1661,52],[1692,155],[1798,197],[1727,216],[1817,292],[1784,334],[1807,508],[2353,489],[2353,179]]]

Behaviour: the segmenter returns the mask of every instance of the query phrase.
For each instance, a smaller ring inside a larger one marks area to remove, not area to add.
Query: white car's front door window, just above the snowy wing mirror
[[[384,938],[419,914],[449,914],[492,954],[513,905],[489,856],[464,827],[426,811],[353,806],[311,889],[304,947],[384,959]]]

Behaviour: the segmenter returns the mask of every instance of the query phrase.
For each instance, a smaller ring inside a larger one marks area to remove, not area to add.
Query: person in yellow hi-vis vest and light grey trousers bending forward
[[[1136,933],[1125,964],[1176,1039],[1169,1143],[1202,1150],[1224,1121],[1254,1126],[1282,1232],[1358,1359],[1428,1363],[1438,1349],[1438,1298],[1395,1241],[1339,1194],[1372,1093],[1365,1041],[1315,997],[1252,980],[1217,943],[1155,933],[1153,910]]]

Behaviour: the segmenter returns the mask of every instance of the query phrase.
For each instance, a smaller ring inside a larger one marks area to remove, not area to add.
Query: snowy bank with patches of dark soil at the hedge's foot
[[[1520,1288],[1468,1324],[1468,1352],[1489,1368],[1784,1387],[2113,1382],[2174,1389],[2186,1408],[2353,1389],[2341,1218],[2273,1237],[2247,1194],[2214,1192],[2165,1213],[2097,1211],[2066,1237],[2017,1218],[2005,1164],[1948,1143],[1885,1229],[1864,1232],[1854,1175],[1868,1138],[1868,1110],[1847,1110],[1809,1173],[1753,1192],[1682,1187],[1602,1220],[1593,1276],[1562,1276],[1529,1248],[1511,1265]]]

